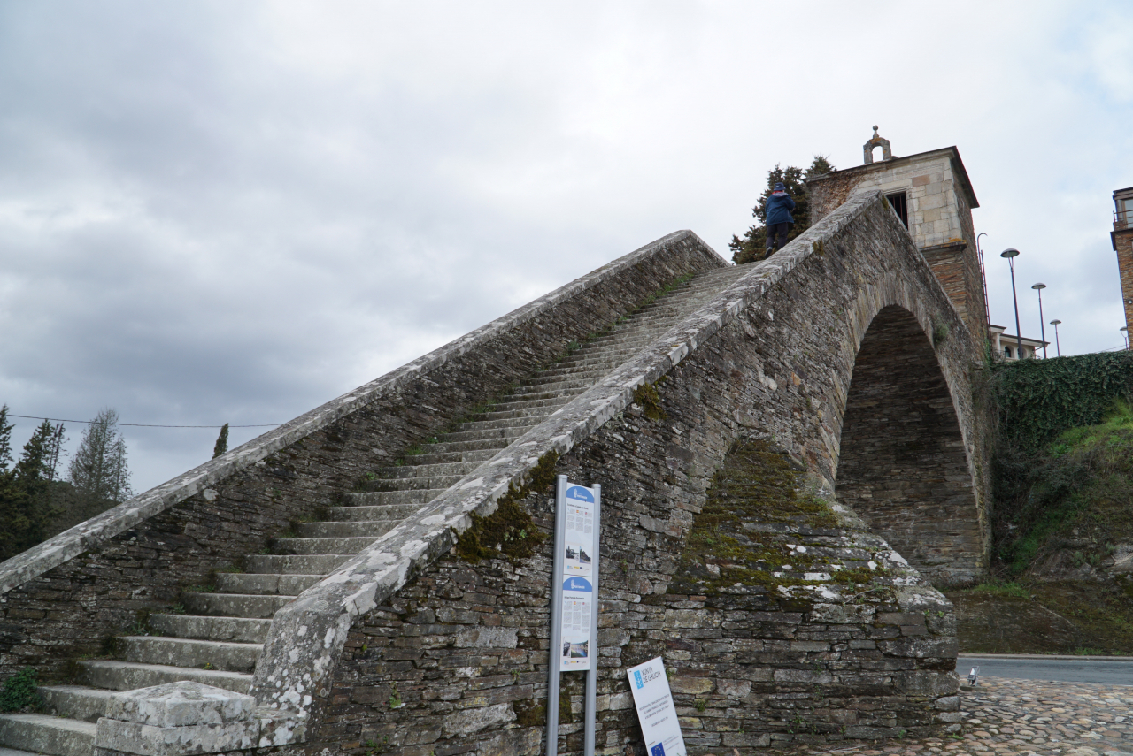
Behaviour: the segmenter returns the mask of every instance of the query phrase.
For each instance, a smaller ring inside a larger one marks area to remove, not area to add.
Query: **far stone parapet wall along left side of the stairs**
[[[65,678],[68,660],[107,653],[111,636],[126,632],[139,612],[176,604],[185,589],[211,582],[212,570],[257,552],[296,518],[333,504],[363,472],[389,464],[465,407],[502,393],[673,278],[723,265],[696,234],[671,234],[533,303],[550,300],[553,307],[530,316],[527,306],[411,363],[426,367],[372,390],[357,409],[340,409],[347,395],[292,421],[289,427],[321,427],[259,461],[246,462],[272,435],[174,479],[165,484],[172,492],[159,487],[5,562],[0,573],[15,587],[0,595],[0,676],[31,665],[41,680]],[[485,332],[491,337],[477,342]],[[194,475],[208,487],[184,482]],[[146,515],[144,507],[156,514]],[[135,524],[99,535],[116,517]],[[52,559],[62,564],[36,572],[37,561]]]

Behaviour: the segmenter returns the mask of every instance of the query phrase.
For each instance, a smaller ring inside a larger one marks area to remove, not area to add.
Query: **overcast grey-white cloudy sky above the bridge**
[[[671,231],[730,257],[875,123],[960,148],[994,323],[1016,247],[1023,334],[1042,281],[1111,349],[1131,115],[1124,1],[0,0],[0,402],[284,422]],[[123,431],[137,491],[216,437]]]

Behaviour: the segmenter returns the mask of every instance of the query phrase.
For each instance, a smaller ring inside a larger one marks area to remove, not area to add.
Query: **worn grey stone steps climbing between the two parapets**
[[[377,469],[369,490],[343,496],[248,555],[242,573],[218,573],[206,591],[186,592],[185,613],[148,619],[152,635],[117,639],[114,659],[75,662],[75,685],[39,688],[50,714],[0,715],[0,756],[91,756],[95,723],[110,696],[177,680],[248,693],[272,616],[383,533],[523,436],[640,352],[682,317],[747,273],[727,267],[697,276],[534,375],[497,403],[455,423],[395,466]],[[15,750],[14,750],[15,749]]]

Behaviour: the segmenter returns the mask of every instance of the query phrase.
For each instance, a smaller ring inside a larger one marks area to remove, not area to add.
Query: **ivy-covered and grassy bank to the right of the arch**
[[[993,579],[949,594],[969,652],[1133,653],[1133,358],[991,367]]]

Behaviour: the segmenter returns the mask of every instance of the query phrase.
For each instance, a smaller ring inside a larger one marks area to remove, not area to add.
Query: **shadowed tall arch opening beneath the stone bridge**
[[[938,587],[981,575],[979,508],[952,396],[903,308],[881,309],[862,338],[835,486],[840,502]]]

